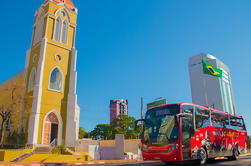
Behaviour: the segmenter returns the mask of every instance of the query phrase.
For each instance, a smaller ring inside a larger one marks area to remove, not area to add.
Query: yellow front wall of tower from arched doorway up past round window
[[[43,75],[43,93],[42,93],[42,104],[40,109],[40,121],[39,121],[39,135],[38,138],[42,137],[42,127],[43,119],[45,115],[51,111],[56,110],[60,113],[63,119],[63,138],[65,137],[66,129],[66,113],[67,113],[67,99],[69,91],[69,67],[70,67],[70,54],[71,52],[54,45],[48,44],[46,49],[46,58],[44,66],[44,75]],[[55,60],[55,55],[60,54],[62,60],[57,62]],[[50,75],[52,70],[58,67],[63,74],[63,88],[62,92],[56,92],[49,90]],[[41,139],[38,140],[38,143],[41,143]]]

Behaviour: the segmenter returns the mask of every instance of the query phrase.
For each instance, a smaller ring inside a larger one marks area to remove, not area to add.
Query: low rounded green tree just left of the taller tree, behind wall
[[[94,139],[112,139],[112,129],[109,124],[98,124],[90,134]]]

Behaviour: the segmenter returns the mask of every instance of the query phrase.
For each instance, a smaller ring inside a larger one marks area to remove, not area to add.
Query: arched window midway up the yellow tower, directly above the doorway
[[[50,77],[50,89],[51,90],[56,90],[56,91],[62,91],[62,73],[60,70],[56,67],[52,72],[51,72],[51,77]]]

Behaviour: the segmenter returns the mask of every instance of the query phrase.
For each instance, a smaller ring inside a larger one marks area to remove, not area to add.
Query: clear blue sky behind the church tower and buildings
[[[191,102],[188,58],[210,53],[231,70],[236,109],[251,134],[250,0],[72,0],[78,8],[80,126],[109,123],[109,100]],[[0,82],[24,69],[43,0],[3,1]],[[4,33],[3,33],[4,32]]]

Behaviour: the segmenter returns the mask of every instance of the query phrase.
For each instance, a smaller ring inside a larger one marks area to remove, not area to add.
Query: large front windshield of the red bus
[[[145,118],[142,143],[168,145],[178,140],[179,125],[176,115],[179,105],[167,105],[150,109]]]

